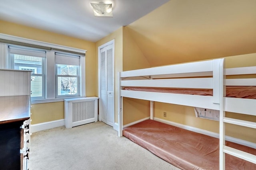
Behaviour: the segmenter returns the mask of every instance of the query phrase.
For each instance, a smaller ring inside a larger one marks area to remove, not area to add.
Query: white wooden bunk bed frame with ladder
[[[251,127],[256,123],[225,117],[225,111],[256,116],[256,100],[227,98],[226,86],[256,86],[256,78],[225,79],[225,75],[256,74],[256,66],[224,69],[224,59],[175,64],[118,73],[118,136],[122,136],[122,98],[150,100],[150,119],[154,119],[154,101],[192,107],[202,107],[220,111],[220,170],[225,169],[225,153],[256,164],[256,155],[225,146],[225,123]],[[126,80],[127,77],[149,76],[149,80]],[[204,78],[202,78],[202,76]],[[207,78],[205,78],[207,76]],[[211,76],[208,78],[208,76]],[[188,78],[195,77],[195,78]],[[161,79],[163,78],[163,79]],[[169,78],[169,79],[166,79]],[[122,90],[125,86],[162,88],[201,88],[213,89],[213,96],[171,94]]]

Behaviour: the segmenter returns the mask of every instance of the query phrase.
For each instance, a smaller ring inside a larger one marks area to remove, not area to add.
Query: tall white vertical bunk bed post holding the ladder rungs
[[[224,59],[219,59],[218,79],[219,79],[219,104],[220,104],[220,170],[225,170],[225,153],[223,152],[225,145],[225,123],[223,121],[225,117],[224,112]]]

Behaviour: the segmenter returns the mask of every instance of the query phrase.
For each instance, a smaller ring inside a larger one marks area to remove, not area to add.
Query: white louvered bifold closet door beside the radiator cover
[[[100,88],[102,121],[114,123],[114,55],[113,44],[100,49]]]

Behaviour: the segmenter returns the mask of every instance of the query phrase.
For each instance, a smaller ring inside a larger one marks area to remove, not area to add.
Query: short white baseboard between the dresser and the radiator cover
[[[60,126],[64,126],[64,119],[59,119],[59,120],[55,120],[55,121],[48,121],[48,122],[44,122],[44,123],[38,123],[38,124],[34,124],[30,126],[30,132],[31,133],[35,133],[38,131],[43,131],[46,129],[52,129],[54,127],[60,127]]]

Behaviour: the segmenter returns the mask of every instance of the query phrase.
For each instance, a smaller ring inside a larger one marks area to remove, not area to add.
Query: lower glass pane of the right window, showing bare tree
[[[58,96],[77,94],[77,77],[58,77]]]

